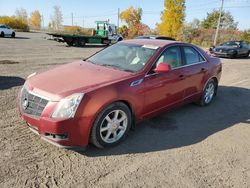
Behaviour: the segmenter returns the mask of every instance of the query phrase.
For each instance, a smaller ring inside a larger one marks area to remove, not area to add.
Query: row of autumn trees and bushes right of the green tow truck
[[[160,23],[156,23],[156,29],[152,30],[141,22],[143,10],[131,6],[120,14],[121,20],[126,24],[121,26],[119,31],[128,38],[138,35],[162,35],[202,46],[211,46],[219,11],[214,9],[207,13],[203,20],[196,18],[187,23],[185,22],[185,9],[185,0],[165,0]],[[250,29],[240,31],[237,26],[238,22],[234,21],[232,14],[222,11],[218,42],[244,40],[250,44]]]

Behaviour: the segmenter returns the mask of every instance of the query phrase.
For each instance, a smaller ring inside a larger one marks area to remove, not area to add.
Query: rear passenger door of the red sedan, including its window
[[[208,76],[208,63],[205,57],[192,46],[182,46],[185,60],[183,74],[185,75],[184,100],[196,98],[202,91]]]

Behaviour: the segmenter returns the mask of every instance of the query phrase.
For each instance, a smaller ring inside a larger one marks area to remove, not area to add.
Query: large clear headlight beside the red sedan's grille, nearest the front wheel
[[[75,93],[62,99],[54,109],[53,118],[72,118],[83,98],[83,93]]]

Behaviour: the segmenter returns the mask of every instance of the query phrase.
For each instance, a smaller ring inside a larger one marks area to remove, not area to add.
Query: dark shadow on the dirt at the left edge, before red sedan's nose
[[[23,85],[25,80],[16,76],[0,76],[0,90]]]

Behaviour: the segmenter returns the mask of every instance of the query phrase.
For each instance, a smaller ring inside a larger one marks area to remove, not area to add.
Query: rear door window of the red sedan
[[[187,65],[192,65],[205,61],[205,59],[194,48],[185,46],[183,47],[183,50],[186,57]]]

